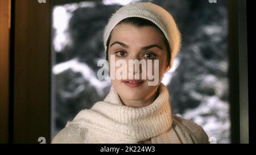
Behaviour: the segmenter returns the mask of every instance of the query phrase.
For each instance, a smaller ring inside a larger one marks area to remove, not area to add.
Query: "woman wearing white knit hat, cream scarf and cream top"
[[[152,60],[158,62],[150,70],[158,83],[149,85],[154,79],[142,76],[113,78],[107,97],[80,111],[52,143],[209,143],[203,128],[171,114],[169,93],[161,81],[179,51],[180,32],[166,10],[150,2],[122,7],[105,27],[104,46],[110,72],[117,72],[113,64],[118,60]],[[139,72],[127,70],[134,76],[143,69],[139,65]]]

